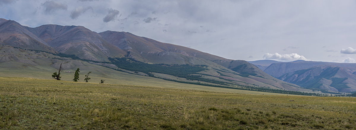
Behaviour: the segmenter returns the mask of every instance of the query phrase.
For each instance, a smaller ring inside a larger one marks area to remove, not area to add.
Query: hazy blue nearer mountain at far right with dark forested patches
[[[297,70],[279,77],[288,83],[297,84],[309,89],[323,89],[336,92],[356,91],[356,75],[349,69],[337,66],[316,66]]]

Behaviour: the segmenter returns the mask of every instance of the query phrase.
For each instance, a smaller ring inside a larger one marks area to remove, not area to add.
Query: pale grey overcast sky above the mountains
[[[356,63],[354,0],[0,0],[23,26],[130,32],[232,60]]]

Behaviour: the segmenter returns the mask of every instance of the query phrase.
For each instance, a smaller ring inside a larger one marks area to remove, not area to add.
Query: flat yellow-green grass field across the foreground
[[[356,129],[355,106],[351,97],[0,78],[0,129],[342,130]]]

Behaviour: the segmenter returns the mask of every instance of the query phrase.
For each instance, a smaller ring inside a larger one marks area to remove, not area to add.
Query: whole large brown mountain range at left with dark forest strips
[[[181,83],[313,92],[276,79],[246,61],[229,60],[127,32],[96,33],[83,26],[53,24],[30,28],[0,19],[0,45],[49,52]]]

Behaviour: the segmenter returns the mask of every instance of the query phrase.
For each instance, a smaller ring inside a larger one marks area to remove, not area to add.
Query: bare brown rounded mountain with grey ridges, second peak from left
[[[126,51],[108,44],[101,36],[83,26],[43,25],[32,28],[38,37],[58,52],[93,61],[122,57]]]

